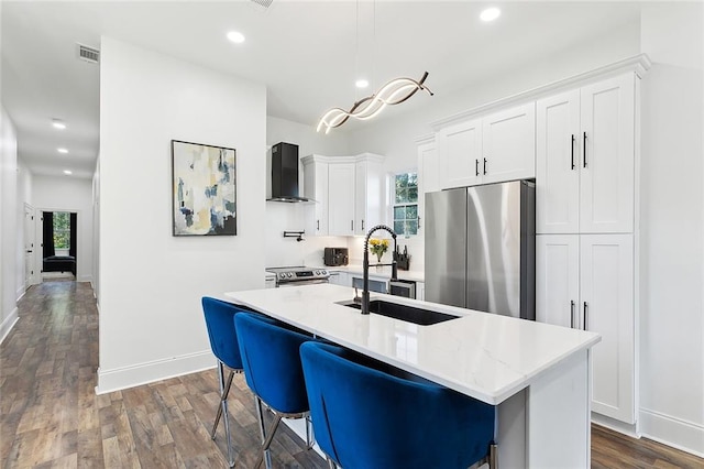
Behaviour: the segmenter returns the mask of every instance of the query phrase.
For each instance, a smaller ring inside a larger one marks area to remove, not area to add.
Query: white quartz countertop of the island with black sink
[[[353,294],[350,287],[320,284],[224,295],[232,303],[493,405],[601,340],[595,332],[372,294],[372,299],[383,297],[461,316],[418,326],[376,314],[362,315],[359,309],[337,304],[351,301]]]

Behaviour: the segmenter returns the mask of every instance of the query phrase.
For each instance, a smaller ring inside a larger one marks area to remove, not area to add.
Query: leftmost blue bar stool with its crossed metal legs
[[[234,467],[234,450],[232,448],[232,439],[230,436],[230,423],[228,414],[228,394],[232,385],[234,373],[242,372],[242,359],[240,358],[240,347],[238,345],[238,336],[234,331],[234,315],[242,312],[238,306],[220,299],[204,296],[201,299],[202,313],[206,317],[206,326],[208,328],[208,338],[210,339],[210,348],[218,359],[218,379],[220,383],[220,404],[216,422],[212,425],[210,437],[216,439],[218,423],[224,415],[224,434],[228,438],[228,463]],[[224,369],[229,369],[230,374],[226,381]]]

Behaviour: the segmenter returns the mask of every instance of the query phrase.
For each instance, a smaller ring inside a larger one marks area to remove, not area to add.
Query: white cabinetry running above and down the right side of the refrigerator
[[[650,65],[641,54],[499,99],[417,140],[424,193],[536,178],[537,320],[601,334],[592,416],[628,432],[637,432],[640,77]]]

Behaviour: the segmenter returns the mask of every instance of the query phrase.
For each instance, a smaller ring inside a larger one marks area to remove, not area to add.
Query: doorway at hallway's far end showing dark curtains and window
[[[42,280],[76,279],[77,214],[44,211],[42,214]]]

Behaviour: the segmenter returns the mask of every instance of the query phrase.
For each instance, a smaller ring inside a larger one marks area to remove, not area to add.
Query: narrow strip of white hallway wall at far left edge
[[[0,341],[18,318],[16,174],[16,131],[0,102]]]

